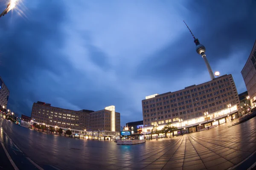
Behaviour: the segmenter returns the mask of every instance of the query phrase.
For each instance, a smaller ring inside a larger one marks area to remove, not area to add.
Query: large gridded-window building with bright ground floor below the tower
[[[236,119],[241,112],[231,74],[180,91],[146,96],[142,109],[144,134],[151,133],[153,126],[161,129],[167,123],[182,127],[188,133],[194,132]],[[210,123],[204,125],[207,122]]]

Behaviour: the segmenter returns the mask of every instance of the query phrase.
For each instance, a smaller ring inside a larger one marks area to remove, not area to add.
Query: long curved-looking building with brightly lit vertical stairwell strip
[[[101,111],[73,111],[37,102],[33,104],[31,118],[35,123],[70,129],[79,138],[110,140],[119,136],[120,113],[115,112],[115,106]]]

